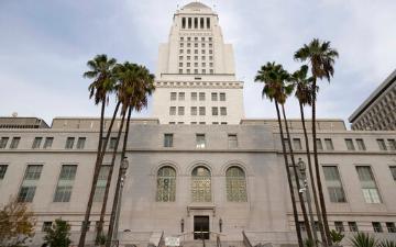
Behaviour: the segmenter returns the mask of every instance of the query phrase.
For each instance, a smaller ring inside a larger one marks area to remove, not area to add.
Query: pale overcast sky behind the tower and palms
[[[180,0],[0,0],[0,115],[99,116],[88,99],[86,61],[108,54],[156,69]],[[314,37],[331,41],[340,58],[320,82],[318,116],[346,120],[396,68],[395,0],[206,0],[233,44],[244,85],[246,117],[275,117],[253,78],[276,61],[289,71],[293,54]],[[288,115],[298,117],[295,101]],[[150,116],[151,108],[141,113]],[[110,115],[110,111],[109,114]]]

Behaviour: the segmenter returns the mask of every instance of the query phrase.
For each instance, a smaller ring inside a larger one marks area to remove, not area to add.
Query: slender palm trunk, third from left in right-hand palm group
[[[304,138],[305,138],[305,144],[306,144],[306,150],[307,150],[307,160],[308,160],[308,172],[309,172],[309,179],[310,179],[310,184],[311,184],[311,189],[312,189],[312,194],[314,194],[314,203],[315,203],[315,210],[317,213],[317,217],[318,217],[318,223],[319,223],[319,231],[320,231],[320,236],[322,238],[322,242],[327,242],[326,240],[326,234],[324,234],[324,228],[323,228],[323,223],[321,220],[321,210],[319,207],[319,201],[318,201],[318,194],[317,194],[317,190],[316,190],[316,186],[315,186],[315,179],[314,179],[314,171],[312,171],[312,162],[311,162],[311,158],[310,158],[310,149],[309,149],[309,142],[308,142],[308,134],[307,134],[307,127],[305,124],[305,115],[304,115],[304,108],[301,102],[299,101],[299,108],[300,108],[300,114],[301,114],[301,123],[302,123],[302,130],[304,130]],[[315,229],[315,222],[311,223],[314,225],[312,229]],[[315,243],[315,245],[317,245],[318,243]]]

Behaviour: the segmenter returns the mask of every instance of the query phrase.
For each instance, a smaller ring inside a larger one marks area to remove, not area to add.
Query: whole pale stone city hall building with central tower
[[[153,116],[132,120],[128,136],[121,246],[156,246],[162,234],[179,237],[184,246],[200,245],[195,239],[202,235],[209,244],[220,236],[227,247],[296,244],[277,122],[244,117],[232,46],[224,44],[209,7],[193,2],[175,13],[168,42],[160,46],[155,83]],[[296,158],[307,162],[301,123],[289,125]],[[119,126],[118,121],[96,188],[88,243]],[[348,131],[341,120],[318,120],[317,126],[330,227],[396,239],[396,132]],[[42,245],[43,229],[58,217],[70,223],[76,245],[99,120],[55,117],[47,125],[1,117],[0,127],[0,204],[10,197],[29,203],[37,221],[31,246]],[[116,180],[117,172],[106,226]]]

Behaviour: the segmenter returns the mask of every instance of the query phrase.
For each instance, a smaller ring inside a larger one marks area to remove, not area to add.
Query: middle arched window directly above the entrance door
[[[193,202],[210,202],[210,171],[206,167],[196,167],[191,178]]]

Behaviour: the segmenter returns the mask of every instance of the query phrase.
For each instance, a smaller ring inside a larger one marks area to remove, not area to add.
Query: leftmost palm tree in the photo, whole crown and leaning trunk
[[[89,98],[94,98],[95,104],[101,103],[100,111],[100,130],[99,130],[99,142],[97,149],[97,158],[94,169],[94,178],[91,183],[91,190],[87,203],[87,210],[85,213],[81,235],[79,238],[78,246],[84,247],[85,238],[87,235],[87,223],[89,221],[90,211],[94,202],[94,194],[96,184],[98,181],[99,169],[100,169],[100,153],[102,148],[102,135],[103,135],[103,122],[105,122],[105,109],[109,101],[109,94],[113,91],[114,78],[112,76],[112,68],[116,66],[117,60],[114,58],[108,58],[107,55],[97,55],[92,60],[88,60],[87,66],[90,70],[84,72],[85,78],[94,79],[92,83],[89,85]]]

